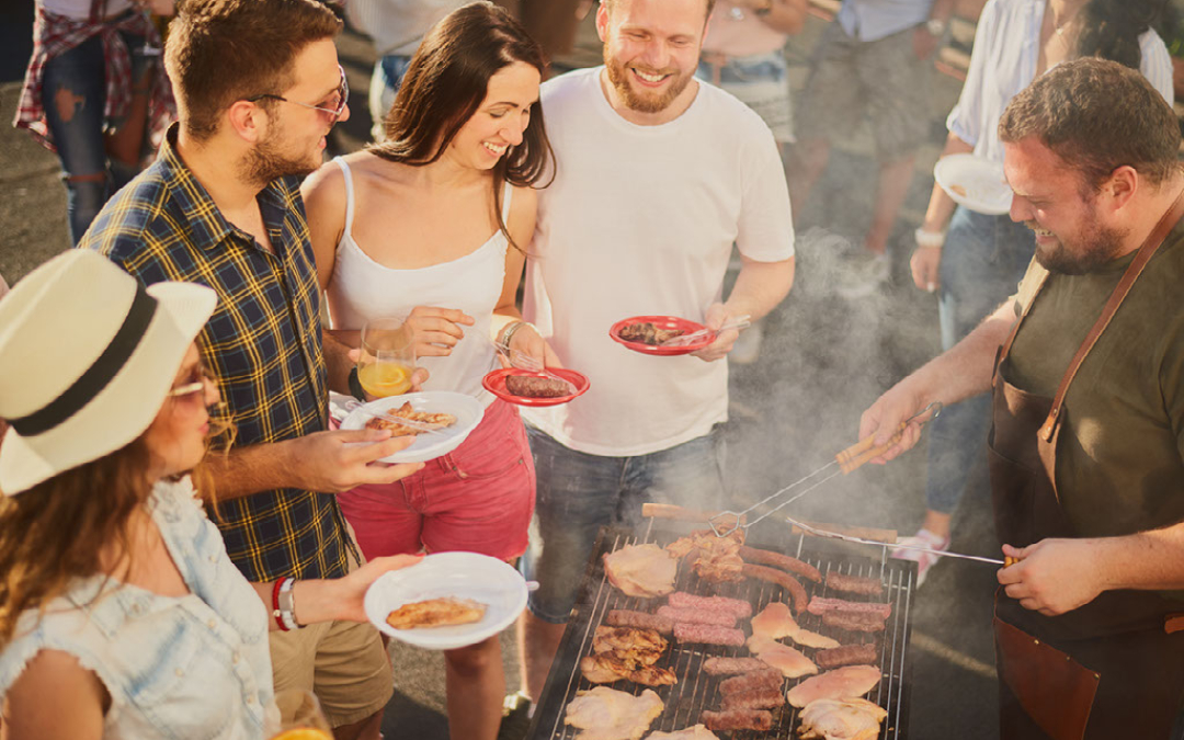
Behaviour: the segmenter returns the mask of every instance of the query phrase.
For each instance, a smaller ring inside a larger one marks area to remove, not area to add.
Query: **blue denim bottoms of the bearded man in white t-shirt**
[[[527,426],[538,485],[522,574],[539,581],[530,612],[562,624],[575,604],[604,525],[636,526],[648,501],[719,508],[723,501],[723,430],[636,457],[577,452]]]

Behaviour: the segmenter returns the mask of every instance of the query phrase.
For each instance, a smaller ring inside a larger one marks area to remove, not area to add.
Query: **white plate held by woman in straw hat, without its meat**
[[[366,616],[385,635],[427,650],[451,650],[497,635],[526,609],[526,580],[513,567],[477,553],[437,553],[385,573],[366,592]],[[395,630],[387,616],[404,604],[457,597],[485,605],[481,622],[446,628]]]

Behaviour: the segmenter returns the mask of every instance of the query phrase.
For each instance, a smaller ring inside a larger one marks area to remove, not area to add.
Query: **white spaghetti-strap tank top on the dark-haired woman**
[[[509,240],[500,230],[476,250],[450,262],[397,270],[379,264],[354,242],[354,184],[349,165],[340,156],[346,180],[346,229],[337,243],[333,278],[326,289],[329,326],[334,329],[361,329],[368,318],[405,316],[417,305],[457,308],[476,323],[464,329],[464,339],[446,358],[420,358],[417,362],[431,377],[425,391],[456,391],[480,399],[488,406],[495,397],[481,387],[481,379],[501,367],[489,341],[494,309],[506,282],[506,250]],[[513,187],[506,184],[502,221],[509,220]]]

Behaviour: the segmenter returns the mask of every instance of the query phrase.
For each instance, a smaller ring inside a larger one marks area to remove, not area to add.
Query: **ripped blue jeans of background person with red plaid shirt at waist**
[[[142,36],[120,32],[131,52],[133,86],[148,71],[152,58],[141,53]],[[107,156],[104,127],[120,122],[104,121],[107,103],[103,40],[95,36],[70,51],[45,63],[41,79],[41,104],[45,123],[53,136],[66,185],[66,213],[70,239],[78,244],[103,204],[136,175],[139,167]],[[75,178],[104,175],[103,179]]]

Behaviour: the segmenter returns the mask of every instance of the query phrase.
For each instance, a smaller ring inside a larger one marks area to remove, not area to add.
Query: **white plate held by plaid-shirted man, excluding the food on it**
[[[394,455],[381,458],[384,463],[422,463],[446,455],[461,446],[461,443],[477,427],[477,424],[481,424],[481,419],[485,414],[484,406],[471,395],[451,391],[423,391],[422,393],[380,398],[365,404],[361,408],[354,408],[341,423],[341,429],[365,429],[366,423],[374,418],[366,411],[386,413],[407,401],[416,411],[451,413],[456,417],[456,424],[439,430],[439,435],[417,436],[414,444],[406,450],[399,450]]]

